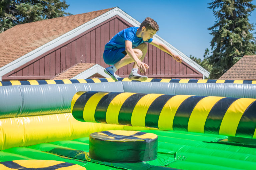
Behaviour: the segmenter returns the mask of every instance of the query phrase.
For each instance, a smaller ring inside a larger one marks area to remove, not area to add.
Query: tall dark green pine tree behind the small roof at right
[[[253,24],[248,17],[255,9],[252,0],[213,0],[208,8],[216,18],[214,26],[208,28],[213,36],[212,55],[208,57],[212,65],[211,79],[219,78],[242,56],[256,52],[255,38],[251,33]]]

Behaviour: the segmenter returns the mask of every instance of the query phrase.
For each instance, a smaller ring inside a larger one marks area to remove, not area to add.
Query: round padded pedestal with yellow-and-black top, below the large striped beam
[[[157,158],[157,135],[140,131],[108,130],[91,133],[89,156],[104,162],[131,163]]]

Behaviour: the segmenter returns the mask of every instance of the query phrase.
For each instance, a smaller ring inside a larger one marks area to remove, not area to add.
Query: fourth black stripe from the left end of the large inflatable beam
[[[166,104],[166,102],[175,95],[162,95],[156,98],[149,106],[146,118],[145,126],[149,128],[158,128],[159,115]]]

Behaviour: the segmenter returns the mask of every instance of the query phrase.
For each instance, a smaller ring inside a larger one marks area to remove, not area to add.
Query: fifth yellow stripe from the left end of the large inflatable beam
[[[177,95],[169,99],[164,105],[158,120],[159,129],[170,129],[173,130],[172,124],[176,111],[179,106],[189,98],[191,95]]]

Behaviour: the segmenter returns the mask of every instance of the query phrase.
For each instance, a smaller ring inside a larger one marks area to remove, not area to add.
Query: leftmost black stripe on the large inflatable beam
[[[72,115],[76,120],[85,122],[83,118],[84,106],[87,103],[87,101],[96,93],[98,92],[95,92],[95,91],[86,92],[76,100],[72,110]]]

